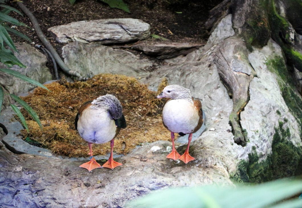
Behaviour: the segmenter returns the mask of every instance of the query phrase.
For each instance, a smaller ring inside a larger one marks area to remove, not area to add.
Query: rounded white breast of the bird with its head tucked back
[[[78,131],[84,140],[100,144],[114,138],[116,125],[108,111],[88,107],[78,120]]]

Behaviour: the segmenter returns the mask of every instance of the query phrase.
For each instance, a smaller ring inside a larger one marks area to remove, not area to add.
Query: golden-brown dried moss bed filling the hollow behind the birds
[[[74,119],[82,103],[107,93],[120,100],[127,121],[114,140],[114,151],[127,154],[137,145],[156,140],[169,140],[170,133],[162,125],[162,102],[156,93],[148,90],[135,78],[124,75],[99,74],[86,82],[75,83],[60,80],[46,85],[51,92],[36,88],[33,93],[23,97],[39,115],[43,130],[25,112],[29,137],[47,147],[54,154],[69,157],[82,157],[88,154],[88,145],[74,127]],[[110,144],[94,144],[93,153],[104,155],[110,152]]]

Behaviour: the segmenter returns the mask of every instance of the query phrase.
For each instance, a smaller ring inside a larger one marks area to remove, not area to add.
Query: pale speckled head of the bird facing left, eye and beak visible
[[[171,99],[187,99],[189,101],[192,100],[190,90],[176,84],[166,86],[157,96],[157,98],[163,97]]]

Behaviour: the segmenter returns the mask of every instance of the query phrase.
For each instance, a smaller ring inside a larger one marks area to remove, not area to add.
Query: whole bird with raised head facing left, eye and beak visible
[[[173,84],[166,86],[157,98],[169,98],[162,109],[162,122],[171,131],[172,152],[166,157],[169,159],[180,159],[185,164],[194,160],[190,156],[189,147],[192,134],[198,131],[203,123],[200,100],[193,98],[189,89]],[[175,149],[174,133],[184,136],[189,134],[188,146],[185,153],[180,156]]]

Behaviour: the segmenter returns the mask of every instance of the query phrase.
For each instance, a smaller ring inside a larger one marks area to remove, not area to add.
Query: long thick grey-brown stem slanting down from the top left
[[[79,72],[77,71],[72,71],[69,69],[69,67],[62,61],[62,59],[60,58],[60,56],[58,55],[58,53],[56,52],[56,50],[53,48],[53,46],[49,43],[49,41],[47,40],[47,38],[44,36],[39,23],[37,22],[36,18],[34,17],[34,15],[31,13],[31,11],[29,11],[27,9],[27,7],[21,3],[21,2],[17,2],[18,6],[20,7],[20,9],[27,15],[27,17],[31,20],[31,23],[33,24],[33,27],[37,33],[37,36],[40,38],[40,40],[42,41],[42,43],[44,44],[44,46],[51,52],[51,54],[53,55],[54,59],[56,60],[56,62],[58,63],[59,67],[67,74],[78,77],[79,80],[87,80],[87,77],[82,77]]]

